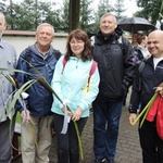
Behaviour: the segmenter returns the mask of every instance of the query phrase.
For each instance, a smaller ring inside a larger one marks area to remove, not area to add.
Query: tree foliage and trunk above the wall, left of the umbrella
[[[93,0],[75,0],[76,3],[74,0],[64,0],[60,8],[41,0],[22,0],[20,3],[7,1],[1,0],[0,10],[4,12],[8,29],[15,30],[36,30],[38,24],[47,22],[54,26],[57,33],[82,28],[91,35],[99,30],[103,13],[113,12],[118,17],[124,12],[123,0],[116,0],[115,7],[109,0],[100,0],[96,9],[91,5]]]

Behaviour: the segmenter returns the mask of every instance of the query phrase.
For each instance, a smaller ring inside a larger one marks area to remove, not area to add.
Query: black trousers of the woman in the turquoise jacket
[[[77,121],[79,133],[82,134],[88,117]],[[74,123],[68,123],[66,134],[61,134],[64,116],[54,114],[54,128],[58,141],[58,163],[79,163],[79,148]]]

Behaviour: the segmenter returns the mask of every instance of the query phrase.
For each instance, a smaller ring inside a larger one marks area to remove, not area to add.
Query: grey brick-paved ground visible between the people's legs
[[[127,100],[128,103],[128,100]],[[93,163],[92,152],[92,115],[90,115],[82,136],[85,161],[80,163]],[[50,163],[57,163],[55,138],[50,150]],[[121,117],[120,136],[117,141],[116,163],[142,163],[141,149],[139,146],[138,129],[128,124],[128,111],[124,106]],[[22,163],[22,160],[14,163]]]

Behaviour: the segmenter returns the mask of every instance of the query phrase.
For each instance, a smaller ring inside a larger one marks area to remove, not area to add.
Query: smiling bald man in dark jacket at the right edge
[[[163,83],[163,32],[154,30],[148,36],[148,50],[151,58],[146,61],[141,72],[141,84],[139,85],[139,72],[136,72],[129,105],[129,123],[136,120],[137,109],[147,105],[155,91],[163,98],[163,88],[158,87]],[[140,89],[139,89],[140,86]],[[154,89],[156,88],[156,90]],[[163,105],[161,106],[163,109]],[[155,115],[156,117],[156,115]],[[163,139],[158,135],[154,121],[145,120],[139,128],[140,146],[142,149],[143,163],[163,163]],[[141,121],[141,120],[140,120]]]

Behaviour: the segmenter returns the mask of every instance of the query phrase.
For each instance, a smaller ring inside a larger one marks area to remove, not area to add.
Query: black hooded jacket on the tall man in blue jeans
[[[122,30],[117,27],[108,39],[104,39],[101,32],[95,36],[92,54],[100,73],[97,97],[99,101],[123,99],[125,91],[133,84],[135,71],[133,47],[124,37],[121,45],[118,42],[121,35]]]

